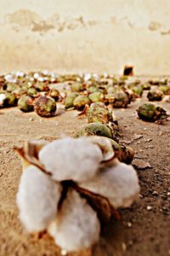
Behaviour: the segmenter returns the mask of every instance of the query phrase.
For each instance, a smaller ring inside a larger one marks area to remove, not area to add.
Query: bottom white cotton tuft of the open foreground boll
[[[48,227],[56,244],[68,252],[92,246],[99,231],[96,212],[74,190],[69,190],[59,215]]]

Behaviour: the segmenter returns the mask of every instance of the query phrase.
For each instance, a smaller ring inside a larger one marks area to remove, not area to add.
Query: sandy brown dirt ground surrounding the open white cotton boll
[[[121,210],[122,220],[111,220],[92,250],[71,256],[170,255],[170,122],[156,125],[137,119],[135,110],[141,102],[146,99],[115,111],[121,140],[135,150],[133,164],[138,168],[141,185],[139,201]],[[170,111],[170,103],[159,105]],[[34,241],[20,224],[15,195],[21,163],[13,148],[27,139],[73,136],[87,120],[77,119],[76,111],[59,111],[51,119],[22,113],[17,108],[1,109],[0,113],[0,255],[59,256],[52,239]],[[149,167],[139,168],[141,164]]]

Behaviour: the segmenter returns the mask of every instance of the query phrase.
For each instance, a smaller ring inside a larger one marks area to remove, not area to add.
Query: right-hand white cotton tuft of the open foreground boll
[[[115,208],[129,207],[139,195],[139,181],[133,166],[118,160],[114,160],[112,166],[104,166],[93,180],[79,187],[105,196]]]

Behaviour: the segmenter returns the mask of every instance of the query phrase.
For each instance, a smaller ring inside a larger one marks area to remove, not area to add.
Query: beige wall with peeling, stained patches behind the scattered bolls
[[[170,73],[169,0],[1,0],[0,72]]]

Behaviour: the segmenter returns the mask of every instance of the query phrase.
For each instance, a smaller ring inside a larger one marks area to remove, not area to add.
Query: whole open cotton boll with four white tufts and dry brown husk
[[[17,205],[28,232],[46,230],[66,252],[98,241],[102,214],[111,218],[139,195],[133,166],[117,160],[111,145],[106,137],[65,137],[17,149],[26,163]]]

